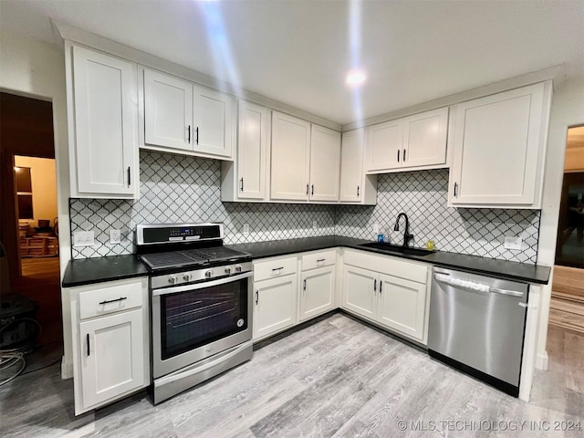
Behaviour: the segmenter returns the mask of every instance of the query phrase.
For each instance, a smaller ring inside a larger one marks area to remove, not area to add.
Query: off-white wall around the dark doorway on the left
[[[65,56],[56,46],[0,29],[0,89],[53,102],[55,159],[57,161],[57,215],[61,278],[70,258],[68,216],[68,131],[65,91]],[[51,218],[52,219],[52,218]],[[72,377],[71,319],[68,291],[61,294],[63,306],[64,355],[62,372]]]

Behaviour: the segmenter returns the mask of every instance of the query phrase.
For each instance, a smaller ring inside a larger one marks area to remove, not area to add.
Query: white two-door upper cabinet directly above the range
[[[144,147],[230,160],[233,107],[227,94],[145,68]]]

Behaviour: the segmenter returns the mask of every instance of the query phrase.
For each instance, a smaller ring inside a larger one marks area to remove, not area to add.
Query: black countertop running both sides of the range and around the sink
[[[475,274],[496,276],[508,280],[524,281],[546,285],[549,281],[551,268],[549,266],[527,265],[525,263],[506,262],[477,255],[463,255],[436,251],[431,255],[403,255],[384,252],[375,248],[360,246],[371,241],[327,235],[320,237],[305,237],[301,239],[275,240],[271,242],[256,242],[253,244],[226,245],[230,248],[245,251],[254,259],[316,251],[318,249],[344,246],[376,254],[386,254],[443,266]],[[142,265],[136,255],[114,255],[109,257],[71,260],[65,271],[63,287],[75,287],[99,283],[103,281],[120,280],[134,276],[147,276],[146,266]]]

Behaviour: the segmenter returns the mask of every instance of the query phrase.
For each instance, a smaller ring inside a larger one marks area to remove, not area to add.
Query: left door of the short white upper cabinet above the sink
[[[401,167],[403,119],[386,121],[368,128],[368,171]]]

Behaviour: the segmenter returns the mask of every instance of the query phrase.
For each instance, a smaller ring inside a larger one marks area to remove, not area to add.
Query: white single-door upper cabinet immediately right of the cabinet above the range
[[[239,100],[235,162],[222,162],[221,200],[266,202],[269,199],[272,111]]]

